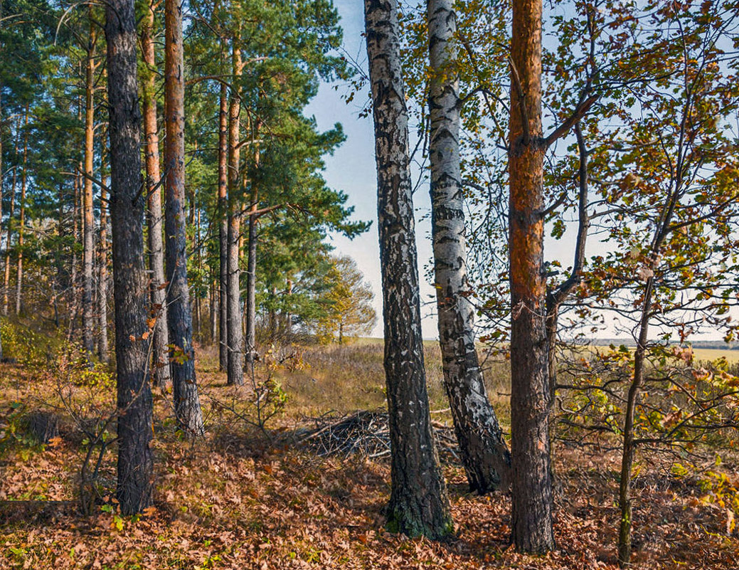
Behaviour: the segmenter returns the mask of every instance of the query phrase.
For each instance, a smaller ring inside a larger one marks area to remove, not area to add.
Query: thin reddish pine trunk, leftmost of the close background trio
[[[228,370],[228,88],[221,84],[218,113],[218,356],[219,369]]]

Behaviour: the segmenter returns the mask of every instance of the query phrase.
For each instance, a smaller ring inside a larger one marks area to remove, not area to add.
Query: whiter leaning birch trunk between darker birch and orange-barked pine
[[[444,389],[470,490],[509,484],[511,455],[488,399],[466,297],[467,246],[460,174],[457,18],[452,0],[428,0],[432,241]]]

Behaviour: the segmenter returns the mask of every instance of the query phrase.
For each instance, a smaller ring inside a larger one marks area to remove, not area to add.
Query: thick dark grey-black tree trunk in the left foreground
[[[118,501],[123,515],[151,505],[151,388],[146,378],[146,274],[140,192],[140,111],[133,0],[106,4],[110,219],[118,381]]]

